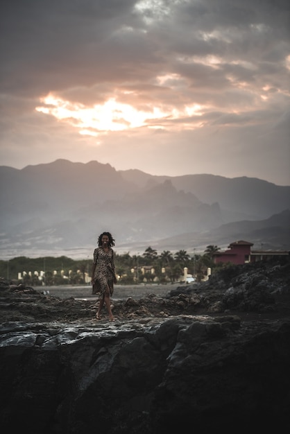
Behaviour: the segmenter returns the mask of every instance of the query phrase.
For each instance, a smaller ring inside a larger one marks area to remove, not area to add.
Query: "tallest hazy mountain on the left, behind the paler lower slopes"
[[[92,203],[122,198],[135,186],[110,164],[71,163],[58,159],[22,170],[0,166],[1,224],[40,216],[47,223],[69,218]],[[21,211],[21,212],[20,212]],[[8,220],[7,220],[8,218]]]

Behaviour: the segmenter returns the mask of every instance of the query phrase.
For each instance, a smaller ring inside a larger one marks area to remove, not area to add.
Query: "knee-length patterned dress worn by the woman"
[[[94,284],[92,293],[103,297],[107,286],[110,289],[110,295],[114,292],[114,250],[109,248],[108,252],[105,252],[102,247],[98,247],[94,250],[94,261],[96,264],[96,270],[94,272]]]

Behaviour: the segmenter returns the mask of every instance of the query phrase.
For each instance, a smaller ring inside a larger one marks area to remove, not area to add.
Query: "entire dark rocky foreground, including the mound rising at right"
[[[0,289],[3,433],[290,426],[289,263],[223,270],[166,297],[92,300]],[[283,428],[284,429],[284,428]]]

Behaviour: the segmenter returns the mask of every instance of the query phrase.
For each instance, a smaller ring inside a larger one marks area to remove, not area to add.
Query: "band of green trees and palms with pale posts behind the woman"
[[[146,248],[142,255],[130,256],[129,253],[115,253],[116,274],[119,284],[139,284],[143,282],[181,281],[184,268],[187,274],[201,281],[207,275],[207,269],[216,268],[212,254],[219,250],[214,245],[208,245],[204,254],[194,254],[190,257],[185,250],[172,254],[164,250]],[[0,260],[0,277],[15,284],[26,286],[54,286],[90,284],[92,259],[79,260],[62,257],[15,257],[9,261]]]

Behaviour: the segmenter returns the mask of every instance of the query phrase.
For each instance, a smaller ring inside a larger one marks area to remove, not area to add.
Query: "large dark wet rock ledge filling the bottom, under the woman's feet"
[[[290,321],[9,322],[0,333],[3,433],[289,426]]]

